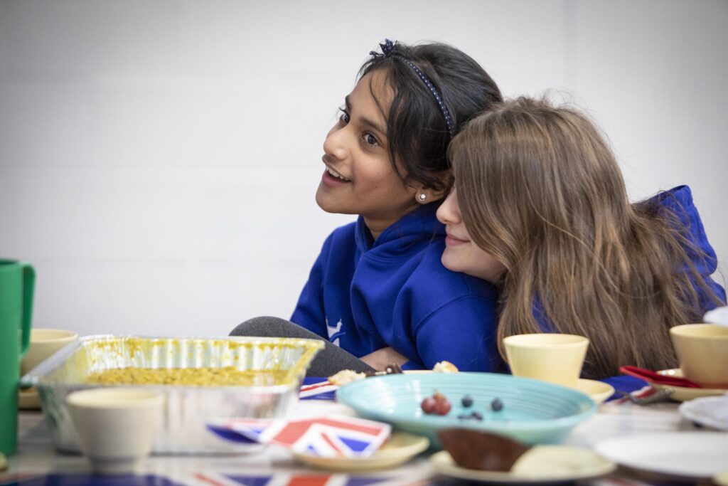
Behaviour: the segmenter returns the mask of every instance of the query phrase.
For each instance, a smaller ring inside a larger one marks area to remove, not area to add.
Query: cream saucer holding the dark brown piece
[[[462,468],[446,450],[433,454],[430,462],[440,474],[492,484],[548,484],[577,481],[605,476],[617,468],[616,463],[590,450],[565,445],[531,447],[515,461],[513,469],[507,472]]]

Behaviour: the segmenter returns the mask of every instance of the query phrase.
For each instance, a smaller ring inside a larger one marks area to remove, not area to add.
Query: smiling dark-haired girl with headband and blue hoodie
[[[257,318],[232,334],[323,338],[314,376],[438,361],[496,369],[494,290],[443,267],[435,212],[451,183],[448,144],[501,94],[454,47],[380,45],[326,136],[316,192],[324,211],[357,221],[325,240],[291,317],[298,326]]]

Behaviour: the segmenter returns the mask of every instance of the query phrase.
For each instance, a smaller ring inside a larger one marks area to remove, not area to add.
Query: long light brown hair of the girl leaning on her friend
[[[678,217],[630,204],[585,115],[518,98],[473,119],[449,153],[470,237],[507,269],[501,353],[504,337],[547,330],[590,339],[587,377],[677,366],[670,326],[700,320],[698,289],[721,301],[691,261],[700,251]]]

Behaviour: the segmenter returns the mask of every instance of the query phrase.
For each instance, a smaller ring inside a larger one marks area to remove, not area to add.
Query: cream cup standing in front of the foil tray
[[[162,424],[165,395],[141,388],[91,388],[68,395],[79,445],[98,474],[133,474]]]

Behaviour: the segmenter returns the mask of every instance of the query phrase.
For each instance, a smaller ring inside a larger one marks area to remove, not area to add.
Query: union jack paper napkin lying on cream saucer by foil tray
[[[232,442],[277,444],[301,454],[326,458],[365,458],[392,432],[388,423],[327,415],[286,419],[233,418],[207,423],[207,428]]]

